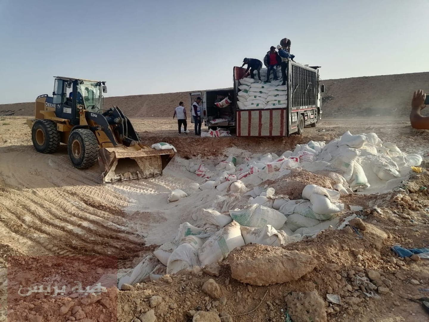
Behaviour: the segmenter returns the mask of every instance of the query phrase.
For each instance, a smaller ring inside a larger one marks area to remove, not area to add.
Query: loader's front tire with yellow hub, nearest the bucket
[[[91,130],[79,128],[70,133],[67,149],[70,160],[78,169],[88,169],[98,160],[98,142]]]

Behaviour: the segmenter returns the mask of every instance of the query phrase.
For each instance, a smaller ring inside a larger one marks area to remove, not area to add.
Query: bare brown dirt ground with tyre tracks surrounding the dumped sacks
[[[162,231],[156,231],[160,235],[158,237],[150,232],[150,229],[159,229],[167,221],[157,207],[150,205],[151,202],[155,204],[159,194],[164,196],[172,188],[181,188],[190,182],[186,177],[179,180],[183,169],[172,164],[162,177],[103,185],[98,167],[88,170],[74,168],[64,145],[52,155],[37,153],[25,119],[5,116],[0,120],[0,321],[7,307],[6,266],[9,265],[8,283],[19,277],[19,268],[11,269],[9,256],[14,260],[24,258],[18,260],[20,265],[24,265],[25,258],[29,257],[98,256],[117,258],[115,265],[119,269],[134,267],[144,255],[157,248],[160,244],[157,241],[163,238]],[[231,147],[281,154],[296,144],[309,140],[329,141],[347,130],[352,134],[375,132],[381,140],[395,143],[407,153],[429,153],[429,132],[415,131],[407,119],[398,118],[323,119],[317,128],[305,128],[302,136],[278,139],[201,138],[192,134],[191,126],[190,134],[178,136],[177,122],[171,118],[134,119],[133,124],[144,143],[171,143],[178,150],[178,155],[185,159],[221,158],[224,150]],[[298,280],[272,286],[249,286],[233,279],[232,266],[224,262],[219,276],[179,273],[171,279],[142,283],[128,291],[110,290],[107,298],[92,302],[82,298],[46,299],[36,296],[30,303],[21,301],[10,305],[8,319],[30,322],[116,321],[116,317],[111,315],[115,306],[117,321],[127,322],[146,321],[142,317],[137,318],[151,309],[156,321],[190,321],[192,318],[187,312],[192,310],[222,312],[231,315],[233,321],[285,321],[285,313],[297,312],[288,302],[293,296],[290,292],[317,291],[323,299],[323,314],[327,314],[329,321],[427,321],[428,315],[421,304],[409,299],[429,294],[428,260],[398,258],[390,250],[390,246],[396,243],[405,248],[429,244],[429,197],[424,188],[429,185],[427,168],[423,166],[423,173],[411,178],[414,188],[407,189],[404,185],[400,191],[359,197],[364,208],[359,214],[366,224],[365,231],[352,228],[326,230],[315,238],[285,246],[286,250],[311,255],[316,263],[313,271]],[[139,194],[148,197],[138,200]],[[395,197],[397,194],[403,196]],[[354,197],[356,195],[349,196],[350,200]],[[377,210],[374,210],[375,206]],[[178,218],[177,224],[180,222],[183,221]],[[177,231],[176,228],[166,228],[164,234]],[[246,249],[248,246],[236,249],[234,256],[245,256]],[[254,251],[262,257],[270,249]],[[37,259],[32,259],[31,264],[36,265]],[[79,270],[86,282],[97,281],[97,276],[92,276],[95,274],[88,274],[95,268],[67,265]],[[42,266],[38,266],[40,270]],[[45,267],[51,267],[46,268],[51,279],[65,269],[58,263],[45,263]],[[375,284],[387,287],[386,294],[377,295],[376,291],[372,297],[363,295],[362,288],[354,281],[356,276],[361,278],[368,274],[368,269],[380,273]],[[91,278],[88,277],[90,275]],[[221,286],[226,301],[211,299],[202,292],[201,286],[209,278]],[[416,281],[418,285],[415,285]],[[330,304],[325,301],[328,293],[341,295],[344,301],[338,305]],[[152,306],[148,301],[152,295],[160,296],[161,304]],[[80,318],[76,319],[75,313],[72,316],[70,312],[61,315],[59,312],[63,305],[70,305],[73,308],[70,311],[76,311]],[[78,313],[81,308],[85,318]],[[305,317],[307,313],[302,314],[291,313],[291,320],[314,321]],[[319,321],[325,320],[320,314]],[[231,320],[224,318],[223,321]]]

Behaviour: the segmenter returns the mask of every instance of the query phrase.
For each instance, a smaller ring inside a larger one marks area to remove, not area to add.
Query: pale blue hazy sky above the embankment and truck
[[[52,76],[107,96],[232,86],[280,39],[322,79],[429,71],[429,0],[0,0],[0,103],[52,94]],[[429,80],[428,80],[429,83]]]

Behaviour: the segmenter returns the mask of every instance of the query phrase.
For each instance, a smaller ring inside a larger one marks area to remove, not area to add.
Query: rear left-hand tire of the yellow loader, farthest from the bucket
[[[60,145],[61,134],[57,130],[57,123],[51,120],[37,120],[31,129],[31,140],[36,151],[40,153],[54,153]]]

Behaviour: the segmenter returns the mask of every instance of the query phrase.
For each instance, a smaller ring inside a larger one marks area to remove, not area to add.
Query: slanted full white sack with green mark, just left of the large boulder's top
[[[234,248],[244,245],[240,225],[237,222],[231,222],[208,238],[198,249],[198,258],[202,266],[220,262],[227,258]]]

